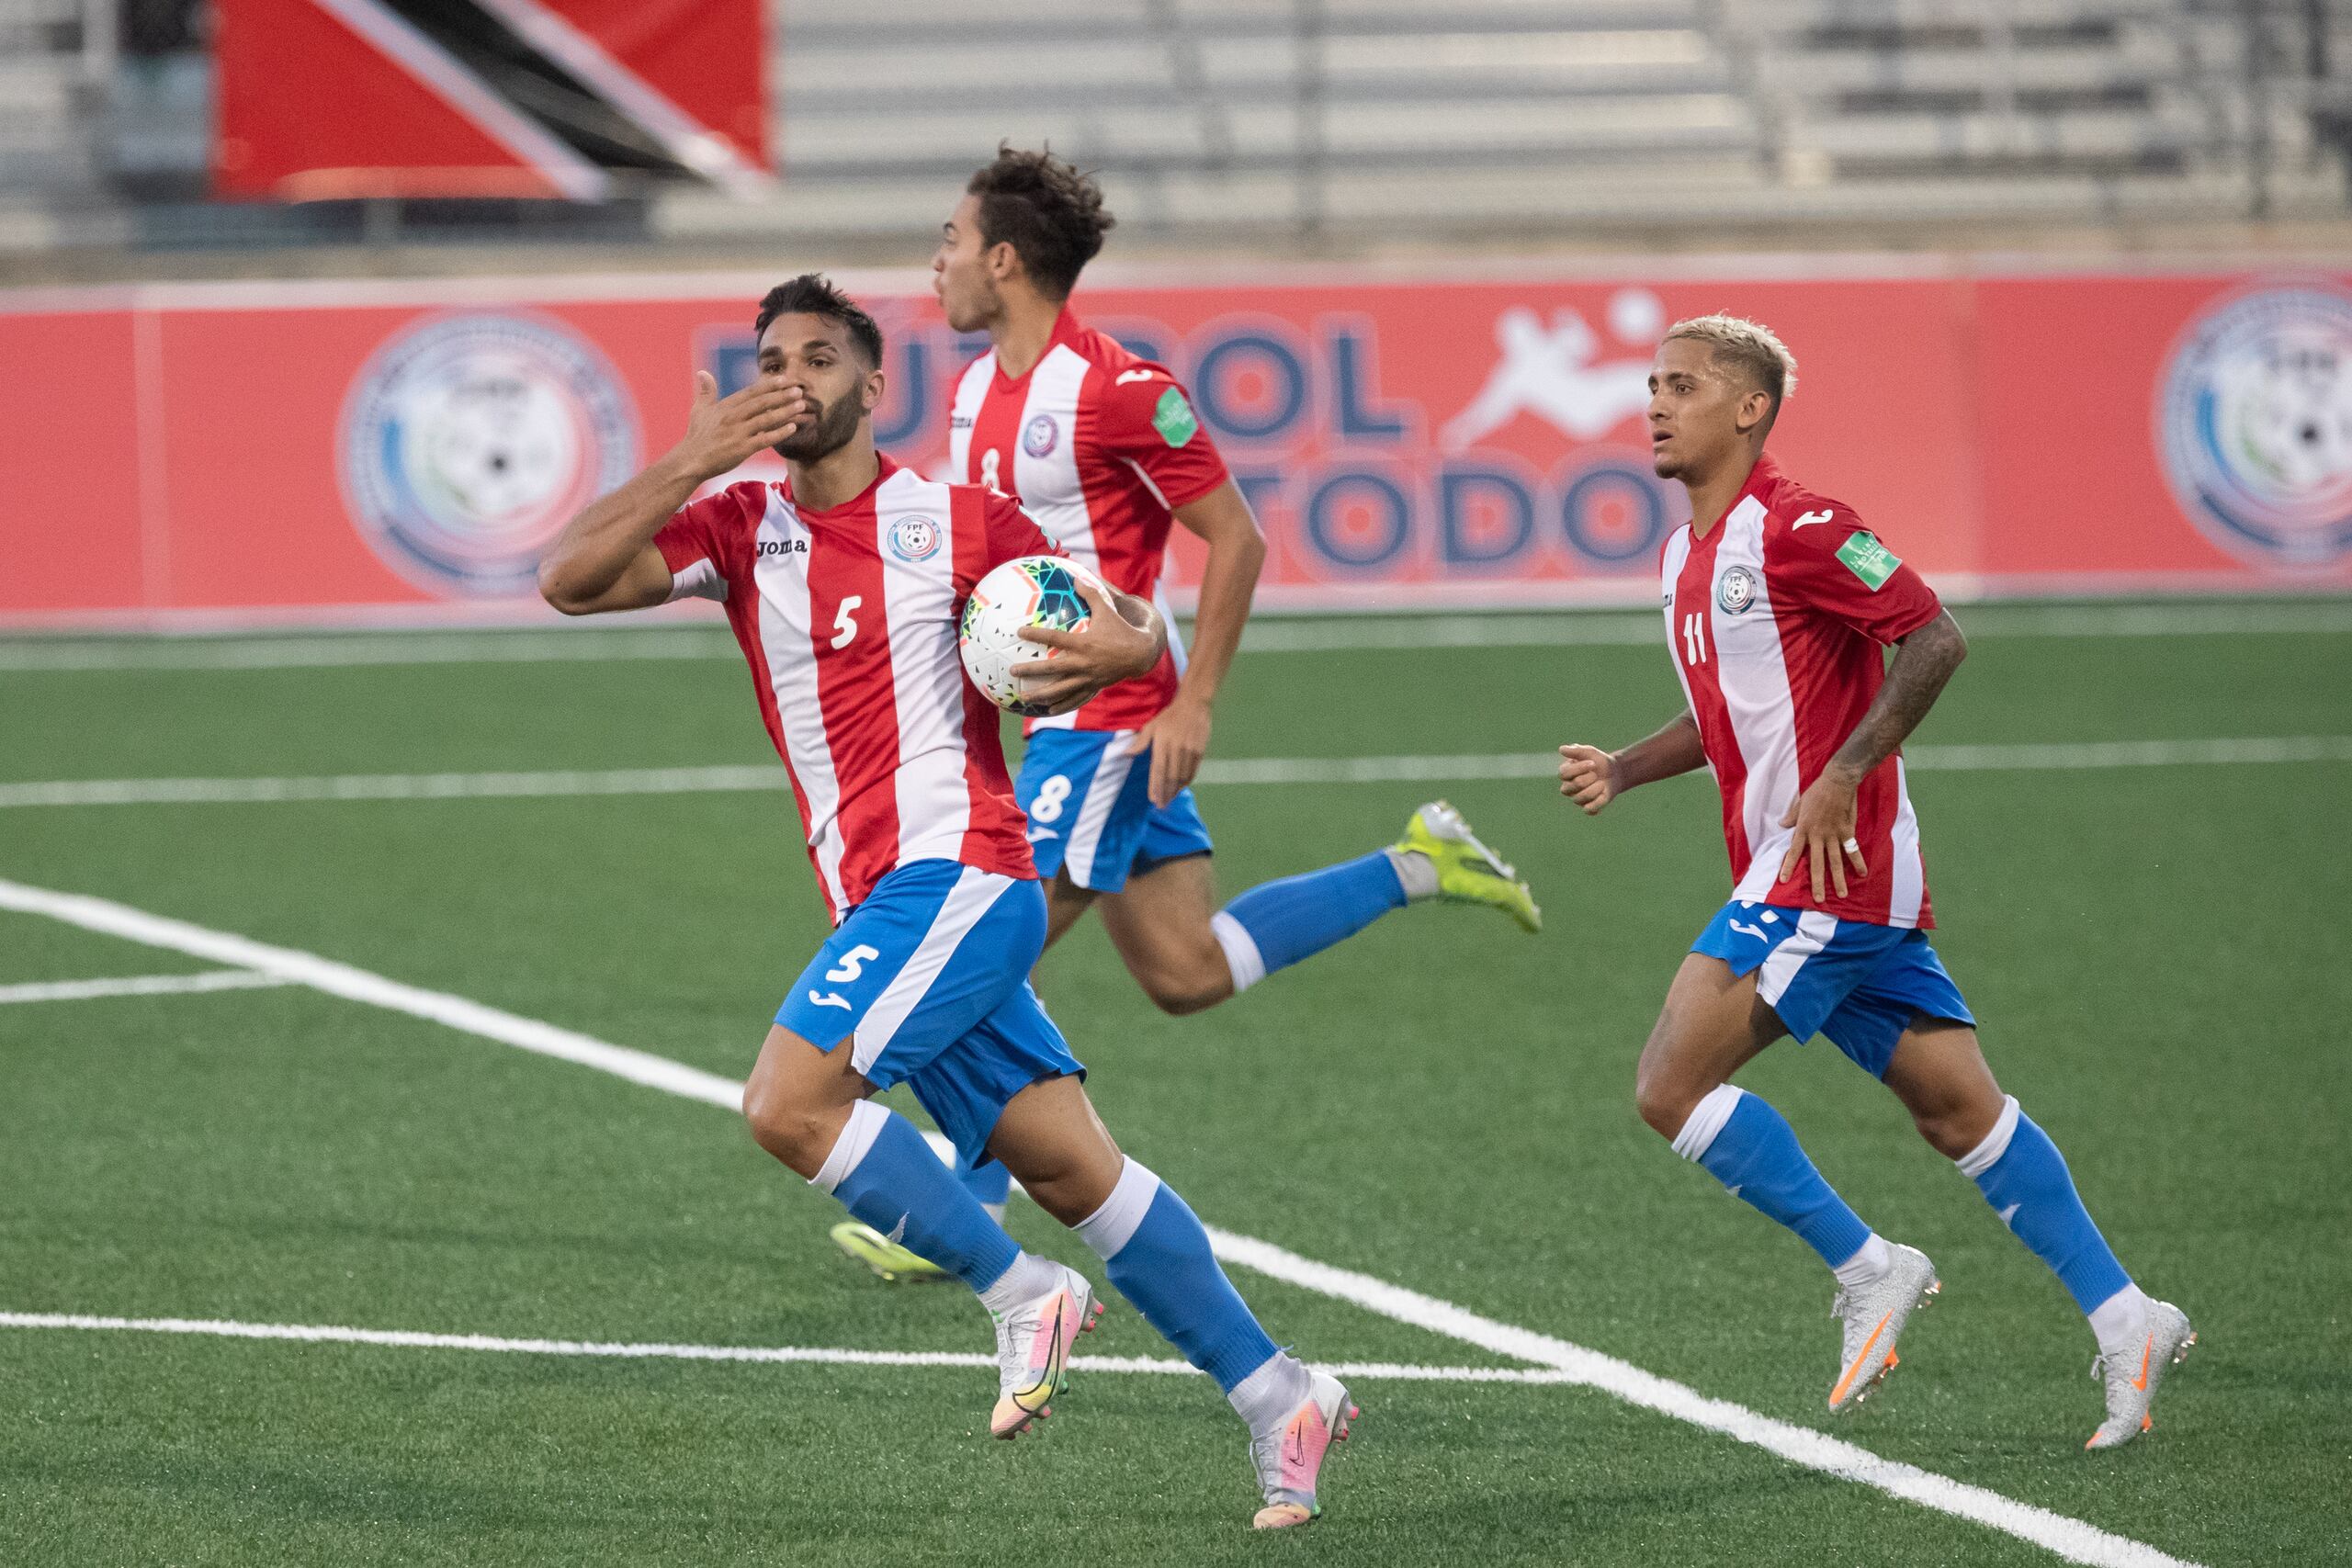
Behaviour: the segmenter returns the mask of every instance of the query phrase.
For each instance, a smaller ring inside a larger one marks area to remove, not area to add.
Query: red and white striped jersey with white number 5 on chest
[[[1054,552],[1018,505],[882,458],[842,505],[795,505],[788,482],[729,484],[654,543],[673,599],[727,604],[835,922],[908,860],[1037,875],[997,708],[955,649],[990,567]]]

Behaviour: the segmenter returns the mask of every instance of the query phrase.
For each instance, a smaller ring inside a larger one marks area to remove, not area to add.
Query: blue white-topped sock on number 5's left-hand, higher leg
[[[938,1164],[915,1124],[873,1100],[849,1107],[849,1124],[809,1185],[974,1291],[993,1286],[1021,1258],[1021,1246]]]

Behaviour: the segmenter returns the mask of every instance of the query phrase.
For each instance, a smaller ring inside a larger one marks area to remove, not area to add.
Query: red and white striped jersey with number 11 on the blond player
[[[1682,524],[1665,541],[1665,635],[1724,792],[1731,896],[1825,910],[1872,926],[1933,926],[1919,818],[1903,759],[1863,780],[1856,832],[1870,872],[1846,867],[1813,898],[1811,867],[1780,882],[1788,806],[1820,773],[1886,679],[1882,644],[1933,621],[1943,604],[1860,517],[1785,480],[1766,456],[1705,538]]]

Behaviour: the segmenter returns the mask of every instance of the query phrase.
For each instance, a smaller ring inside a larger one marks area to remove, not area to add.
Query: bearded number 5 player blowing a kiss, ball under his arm
[[[835,919],[743,1086],[753,1138],[978,1293],[997,1331],[990,1432],[1011,1439],[1051,1415],[1070,1342],[1101,1307],[870,1098],[908,1084],[964,1161],[1009,1166],[1216,1378],[1249,1422],[1258,1528],[1305,1523],[1324,1450],[1355,1415],[1348,1389],[1275,1347],[1176,1190],[1120,1154],[1028,985],[1047,903],[997,710],[964,679],[955,628],[990,567],[1054,545],[1004,496],[875,451],[882,334],[823,277],[769,289],[755,334],[757,378],[722,400],[699,374],[684,440],[564,524],[539,571],[574,616],[720,599],[750,663]],[[762,447],[786,458],[783,484],[689,501]],[[1084,592],[1082,630],[1023,632],[1044,649],[1016,675],[1051,708],[1150,670],[1167,646],[1143,599]]]

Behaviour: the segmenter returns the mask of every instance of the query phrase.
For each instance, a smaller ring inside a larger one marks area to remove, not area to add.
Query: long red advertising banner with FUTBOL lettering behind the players
[[[539,552],[677,440],[696,369],[748,378],[767,282],[0,296],[0,618],[548,614]],[[889,334],[880,442],[934,468],[981,343],[913,275],[844,284]],[[1265,609],[1646,602],[1686,498],[1649,470],[1644,376],[1668,322],[1724,308],[1797,353],[1783,465],[1955,595],[2352,590],[2345,273],[1317,270],[1077,303],[1190,383],[1265,527]]]

